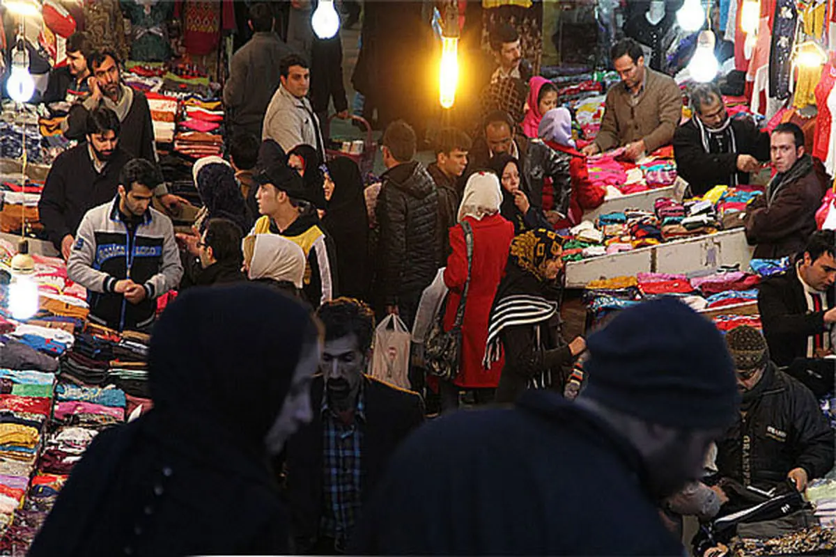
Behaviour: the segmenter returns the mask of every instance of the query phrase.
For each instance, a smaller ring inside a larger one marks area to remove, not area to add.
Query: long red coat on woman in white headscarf
[[[461,367],[454,383],[464,388],[493,387],[499,384],[504,362],[493,362],[489,370],[482,368],[487,344],[487,322],[493,299],[505,272],[508,250],[514,227],[501,215],[476,220],[465,217],[473,230],[473,261],[470,288],[467,291],[465,316],[461,323]],[[450,289],[444,314],[444,330],[450,331],[456,321],[467,279],[467,248],[461,225],[450,229],[451,256],[447,259],[444,283]]]

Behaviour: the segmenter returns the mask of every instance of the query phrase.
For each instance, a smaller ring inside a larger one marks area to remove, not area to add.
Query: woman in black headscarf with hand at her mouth
[[[538,228],[551,229],[543,210],[534,204],[528,183],[523,180],[519,160],[510,154],[498,154],[491,160],[490,169],[502,184],[502,216],[512,222],[515,234]]]

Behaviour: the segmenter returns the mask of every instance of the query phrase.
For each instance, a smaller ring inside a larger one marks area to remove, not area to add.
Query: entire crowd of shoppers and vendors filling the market
[[[223,91],[227,159],[193,166],[191,230],[166,215],[187,201],[166,189],[119,56],[73,38],[50,84],[79,95],[65,134],[82,142],[52,166],[41,221],[90,321],[152,334],[155,408],[95,438],[33,555],[681,554],[682,515],[732,514],[750,486],[803,491],[833,468],[833,429],[783,371],[831,356],[836,322],[836,238],[814,220],[830,178],[797,125],[732,119],[714,85],[691,90],[680,125],[680,89],[624,39],[580,146],[504,26],[477,134],[441,129],[425,166],[395,119],[365,187],[353,160],[326,157],[308,59],[263,4],[250,25]],[[694,195],[776,170],[738,217],[756,256],[793,258],[762,283],[763,331],[724,338],[663,298],[564,338],[562,231],[604,201],[588,157],[671,144]],[[411,329],[442,268],[456,373],[416,357],[410,390],[370,377],[375,323]],[[455,413],[462,392],[505,406]],[[422,425],[433,400],[446,415]]]

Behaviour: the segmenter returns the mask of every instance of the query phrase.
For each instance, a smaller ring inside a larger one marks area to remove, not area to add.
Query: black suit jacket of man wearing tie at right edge
[[[810,312],[807,295],[798,281],[798,271],[790,269],[762,281],[757,293],[757,311],[763,322],[772,362],[788,366],[798,357],[807,357],[808,337],[829,334],[824,311]],[[836,307],[836,290],[828,288],[828,305]]]

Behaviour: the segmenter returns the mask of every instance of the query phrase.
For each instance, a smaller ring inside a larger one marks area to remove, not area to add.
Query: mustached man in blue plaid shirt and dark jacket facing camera
[[[375,317],[353,298],[317,311],[325,346],[314,376],[314,420],[288,441],[287,488],[295,552],[344,553],[390,455],[424,420],[414,392],[364,375]]]

